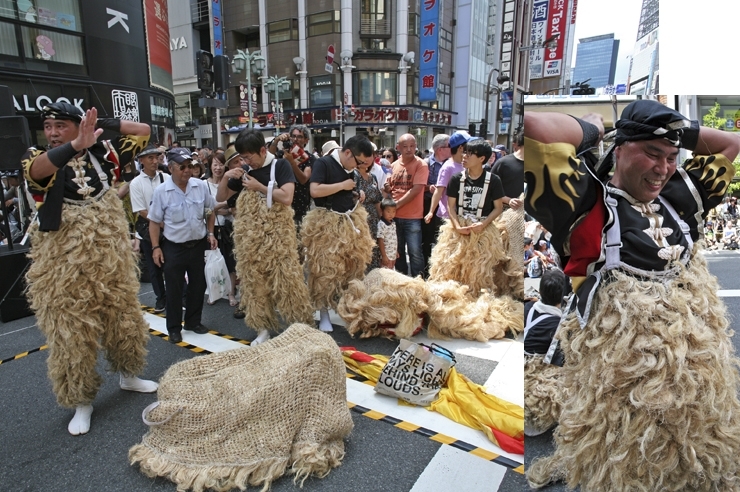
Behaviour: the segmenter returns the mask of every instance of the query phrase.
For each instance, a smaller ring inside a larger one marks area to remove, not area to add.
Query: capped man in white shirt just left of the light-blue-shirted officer
[[[129,185],[129,195],[131,196],[131,209],[134,213],[139,214],[136,220],[136,237],[141,241],[141,251],[147,262],[147,271],[149,272],[149,281],[152,283],[152,290],[157,297],[154,305],[154,312],[161,313],[165,308],[165,286],[162,268],[154,263],[152,258],[152,242],[149,237],[149,205],[152,202],[154,189],[166,180],[170,179],[168,174],[159,171],[159,156],[162,151],[158,147],[149,144],[138,155],[141,163],[141,174],[136,176]],[[156,243],[155,243],[156,244]]]

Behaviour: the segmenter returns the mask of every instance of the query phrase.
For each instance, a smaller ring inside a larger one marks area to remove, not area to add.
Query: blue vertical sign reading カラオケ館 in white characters
[[[422,0],[420,22],[419,102],[436,101],[439,73],[438,0]]]

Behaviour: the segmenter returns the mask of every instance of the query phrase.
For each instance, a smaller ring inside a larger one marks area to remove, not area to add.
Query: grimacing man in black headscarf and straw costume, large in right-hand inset
[[[598,115],[525,113],[525,207],[552,232],[576,292],[556,335],[556,450],[527,478],[584,491],[740,490],[738,359],[696,246],[740,139],[650,100],[615,126],[596,162]],[[679,165],[679,148],[694,157]]]

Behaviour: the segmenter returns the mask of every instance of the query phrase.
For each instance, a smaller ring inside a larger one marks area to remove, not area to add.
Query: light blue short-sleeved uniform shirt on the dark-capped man
[[[168,241],[194,241],[205,237],[205,212],[213,211],[215,205],[205,181],[190,178],[183,193],[170,179],[154,190],[149,220],[164,222],[164,237]]]

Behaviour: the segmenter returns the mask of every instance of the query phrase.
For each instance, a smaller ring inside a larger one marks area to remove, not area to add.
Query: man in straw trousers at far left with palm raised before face
[[[23,157],[39,209],[32,229],[28,300],[49,345],[48,374],[57,402],[74,408],[72,435],[90,430],[92,401],[102,379],[98,347],[122,389],[152,393],[144,369],[147,324],[139,309],[139,280],[121,200],[111,187],[121,167],[149,140],[149,125],[97,119],[58,102],[41,117],[48,150]],[[96,129],[97,125],[97,129]],[[98,142],[103,130],[120,133]]]

